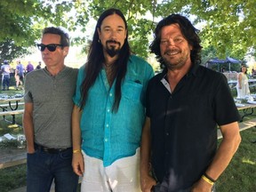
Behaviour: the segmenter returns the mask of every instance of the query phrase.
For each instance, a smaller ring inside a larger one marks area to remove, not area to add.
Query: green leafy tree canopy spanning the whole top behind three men
[[[145,58],[156,21],[170,13],[181,13],[200,25],[204,48],[213,46],[219,58],[232,53],[241,60],[249,49],[256,50],[255,0],[1,0],[0,42],[9,38],[18,45],[33,45],[41,29],[50,24],[84,32],[89,20],[97,20],[110,7],[124,12],[132,51]],[[88,42],[80,35],[74,40]]]

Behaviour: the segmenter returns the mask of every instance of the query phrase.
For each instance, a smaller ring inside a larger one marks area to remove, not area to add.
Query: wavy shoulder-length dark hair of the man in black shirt
[[[167,70],[167,67],[164,63],[164,60],[160,52],[161,30],[165,26],[169,26],[176,23],[179,24],[181,33],[188,41],[188,44],[192,45],[193,47],[193,49],[190,52],[190,60],[192,61],[193,64],[199,65],[201,63],[200,52],[202,50],[202,46],[200,45],[201,40],[197,35],[199,30],[196,29],[186,17],[181,16],[180,14],[171,14],[157,24],[155,29],[155,39],[149,46],[151,52],[156,54],[156,60],[160,62],[160,67],[164,68],[164,70]]]

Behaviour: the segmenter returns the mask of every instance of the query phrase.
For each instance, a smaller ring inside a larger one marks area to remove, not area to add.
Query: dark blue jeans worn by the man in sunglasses
[[[27,192],[50,191],[52,180],[55,192],[76,192],[78,176],[72,169],[72,148],[51,154],[36,149],[27,154]]]

